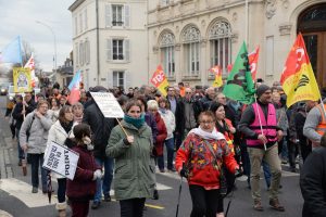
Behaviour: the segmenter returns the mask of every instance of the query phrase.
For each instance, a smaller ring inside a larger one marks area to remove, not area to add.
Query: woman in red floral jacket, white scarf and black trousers
[[[230,173],[239,169],[225,137],[215,129],[215,115],[208,111],[199,115],[200,126],[192,129],[177,151],[175,165],[180,176],[187,177],[192,200],[190,217],[224,216],[217,201],[220,194],[220,168],[222,164]],[[214,155],[213,155],[214,153]],[[217,159],[217,164],[216,164]],[[189,170],[183,167],[186,164]]]

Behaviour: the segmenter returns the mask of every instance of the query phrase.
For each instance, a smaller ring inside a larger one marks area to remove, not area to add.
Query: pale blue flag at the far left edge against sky
[[[21,63],[23,66],[20,36],[1,50],[0,63]]]

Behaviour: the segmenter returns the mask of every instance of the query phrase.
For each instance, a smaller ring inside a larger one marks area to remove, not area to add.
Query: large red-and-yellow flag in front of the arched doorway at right
[[[321,99],[318,85],[301,34],[298,35],[289,52],[281,73],[280,84],[287,94],[288,107],[296,102],[305,100],[317,101]]]

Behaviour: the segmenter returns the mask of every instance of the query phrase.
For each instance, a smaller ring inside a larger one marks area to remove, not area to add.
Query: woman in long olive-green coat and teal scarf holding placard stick
[[[141,105],[130,101],[121,126],[113,128],[106,155],[115,158],[114,192],[122,217],[141,217],[145,201],[154,191],[155,166],[151,158],[152,132],[145,123]]]

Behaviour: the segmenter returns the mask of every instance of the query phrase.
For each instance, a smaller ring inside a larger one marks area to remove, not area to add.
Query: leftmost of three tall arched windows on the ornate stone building
[[[174,44],[175,37],[172,33],[162,35],[160,41],[161,63],[165,75],[171,78],[175,75]]]

